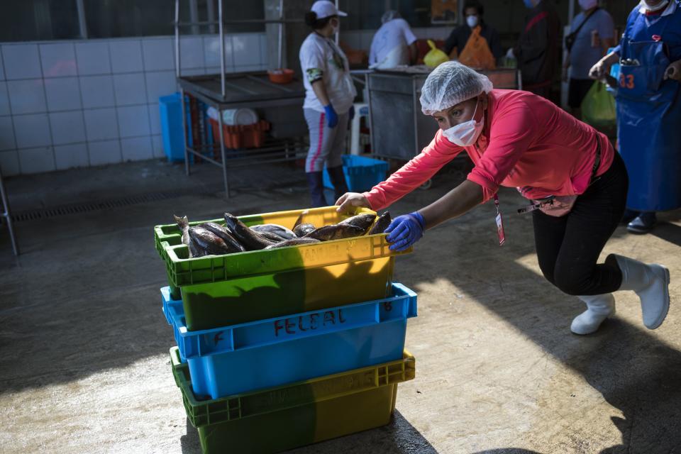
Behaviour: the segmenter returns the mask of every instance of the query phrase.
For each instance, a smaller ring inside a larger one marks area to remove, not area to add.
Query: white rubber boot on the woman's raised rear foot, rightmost
[[[657,263],[646,263],[613,254],[622,271],[620,290],[633,290],[641,299],[643,324],[658,328],[669,311],[669,270]]]

